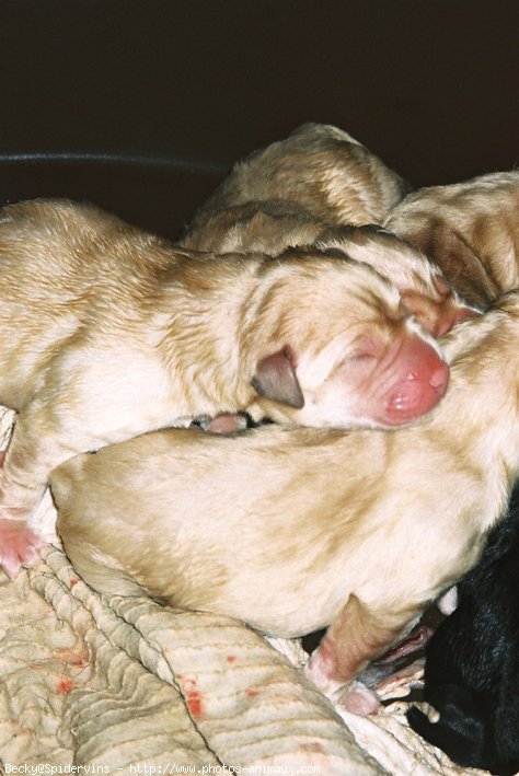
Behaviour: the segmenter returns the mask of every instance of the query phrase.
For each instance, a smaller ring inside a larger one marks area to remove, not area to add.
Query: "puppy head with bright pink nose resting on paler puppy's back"
[[[392,428],[428,413],[449,369],[399,291],[347,258],[291,255],[250,328],[253,417]]]

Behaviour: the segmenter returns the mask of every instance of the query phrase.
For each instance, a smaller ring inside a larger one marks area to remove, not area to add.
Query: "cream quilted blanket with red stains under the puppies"
[[[0,408],[0,447],[12,422]],[[471,773],[408,729],[402,699],[373,717],[339,714],[304,677],[298,641],[99,595],[55,520],[47,493],[34,516],[49,541],[42,561],[0,577],[2,773]]]

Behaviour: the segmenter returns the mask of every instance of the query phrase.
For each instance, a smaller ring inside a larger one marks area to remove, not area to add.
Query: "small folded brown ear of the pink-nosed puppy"
[[[286,345],[257,362],[252,384],[261,396],[301,409],[304,396],[296,377],[296,356]]]

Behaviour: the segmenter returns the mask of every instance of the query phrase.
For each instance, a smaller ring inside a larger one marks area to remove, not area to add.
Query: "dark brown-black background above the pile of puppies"
[[[0,0],[0,201],[176,236],[307,120],[416,186],[517,165],[518,0]]]

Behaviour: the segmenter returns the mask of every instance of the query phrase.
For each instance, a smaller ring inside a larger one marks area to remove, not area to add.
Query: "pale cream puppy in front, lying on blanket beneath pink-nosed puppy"
[[[164,430],[80,455],[50,480],[66,552],[103,592],[287,638],[330,626],[309,676],[338,707],[373,710],[350,683],[476,563],[503,513],[518,338],[519,294],[453,328],[447,395],[397,433]]]

